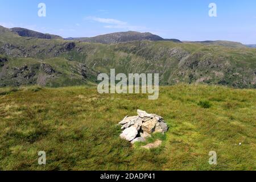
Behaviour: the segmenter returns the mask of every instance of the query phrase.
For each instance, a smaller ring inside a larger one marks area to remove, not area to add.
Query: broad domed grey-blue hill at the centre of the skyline
[[[172,42],[180,42],[177,39],[163,39],[158,35],[151,34],[149,32],[141,33],[135,31],[127,31],[127,32],[115,32],[112,34],[98,35],[93,38],[67,38],[66,40],[79,40],[81,42],[90,42],[90,43],[102,43],[102,44],[113,44],[120,42],[130,42],[135,40],[151,40],[151,41],[172,41]]]

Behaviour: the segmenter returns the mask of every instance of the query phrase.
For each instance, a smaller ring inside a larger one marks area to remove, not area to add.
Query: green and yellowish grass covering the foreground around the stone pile
[[[180,84],[160,88],[155,101],[85,86],[0,93],[0,170],[256,170],[253,89]],[[162,139],[161,147],[144,150],[119,138],[117,123],[137,109],[170,126],[147,141]],[[38,165],[39,151],[46,166]],[[209,151],[217,152],[217,166],[209,165]]]

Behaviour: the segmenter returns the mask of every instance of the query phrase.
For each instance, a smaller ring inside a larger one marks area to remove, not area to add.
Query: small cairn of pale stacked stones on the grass
[[[137,113],[137,116],[126,116],[119,122],[123,130],[121,138],[131,143],[144,142],[152,133],[166,133],[168,130],[166,122],[159,115],[148,114],[142,110],[137,110]]]

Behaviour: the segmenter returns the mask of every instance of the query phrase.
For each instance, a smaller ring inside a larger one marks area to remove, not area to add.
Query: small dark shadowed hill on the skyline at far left
[[[63,39],[58,35],[43,34],[26,28],[11,28],[10,30],[16,32],[19,36],[39,38],[39,39]]]

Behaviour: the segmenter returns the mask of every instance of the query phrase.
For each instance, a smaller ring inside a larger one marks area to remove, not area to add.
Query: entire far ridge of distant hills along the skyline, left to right
[[[2,31],[3,31],[3,26]],[[0,28],[1,29],[1,28]],[[0,30],[1,31],[1,30]],[[203,41],[181,41],[179,39],[164,39],[158,35],[151,34],[150,32],[137,32],[137,31],[126,31],[126,32],[113,32],[110,34],[102,34],[93,37],[81,37],[81,38],[62,38],[59,35],[53,34],[44,34],[42,32],[29,30],[27,28],[5,28],[5,31],[14,32],[19,36],[39,38],[39,39],[64,39],[64,40],[76,40],[80,42],[89,42],[89,43],[102,43],[102,44],[113,44],[120,42],[130,42],[130,41],[139,41],[139,40],[150,40],[150,41],[170,41],[175,43],[200,43],[205,45],[217,45],[225,47],[234,47],[234,48],[245,48],[251,47],[255,48],[256,44],[242,44],[240,42],[226,41],[226,40],[203,40]]]

